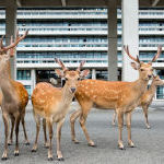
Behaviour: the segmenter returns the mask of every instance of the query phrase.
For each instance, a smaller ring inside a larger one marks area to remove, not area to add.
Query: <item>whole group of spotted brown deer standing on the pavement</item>
[[[11,37],[11,44],[3,46],[3,37],[0,40],[0,106],[2,109],[2,118],[4,122],[4,151],[2,160],[8,159],[8,145],[12,144],[13,129],[15,128],[15,150],[14,155],[19,155],[19,126],[22,121],[25,143],[30,144],[26,130],[25,130],[25,107],[28,102],[28,94],[25,87],[14,80],[10,74],[10,58],[14,56],[15,47],[27,35],[27,31],[24,35],[16,34],[16,38],[13,42]],[[36,139],[32,152],[37,150],[37,140],[40,129],[40,118],[43,118],[43,127],[45,134],[45,147],[48,148],[48,160],[52,160],[52,124],[57,124],[57,157],[62,161],[62,153],[60,150],[61,127],[65,121],[65,117],[69,112],[72,98],[75,97],[80,104],[80,108],[71,114],[71,137],[74,143],[79,141],[75,138],[74,124],[77,118],[80,118],[80,126],[85,134],[89,145],[94,147],[94,142],[90,139],[89,132],[85,127],[86,117],[91,108],[96,105],[103,109],[115,109],[114,120],[117,116],[118,119],[118,147],[125,149],[122,143],[122,126],[124,115],[126,114],[126,125],[128,129],[128,143],[130,147],[134,147],[131,140],[131,113],[137,106],[142,106],[147,127],[150,128],[148,122],[148,107],[152,103],[156,85],[164,85],[164,82],[157,77],[153,75],[152,62],[157,59],[162,51],[162,47],[157,48],[157,54],[152,61],[145,63],[139,60],[139,57],[134,58],[130,55],[128,46],[124,47],[126,54],[134,61],[131,62],[131,67],[139,72],[139,79],[133,82],[122,81],[101,81],[101,80],[81,80],[90,73],[90,70],[81,71],[84,61],[80,63],[77,70],[69,70],[65,67],[62,61],[56,59],[56,62],[62,68],[62,70],[56,69],[56,73],[60,78],[66,79],[66,84],[62,89],[57,89],[49,83],[40,82],[36,85],[32,94],[33,114],[36,121]],[[151,86],[148,90],[149,81],[152,79]],[[9,139],[9,118],[11,119],[11,133]],[[46,136],[46,127],[49,131],[49,141]]]

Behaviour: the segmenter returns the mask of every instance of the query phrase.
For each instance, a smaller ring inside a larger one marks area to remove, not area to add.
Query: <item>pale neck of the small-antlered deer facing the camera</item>
[[[69,105],[73,99],[74,93],[70,92],[70,87],[67,84],[61,89],[61,101],[63,104]]]

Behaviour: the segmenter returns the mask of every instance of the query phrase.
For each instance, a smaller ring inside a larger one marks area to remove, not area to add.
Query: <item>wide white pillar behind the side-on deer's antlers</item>
[[[139,55],[139,0],[122,0],[122,46],[128,45],[132,56]],[[122,50],[122,81],[134,81],[138,71],[130,66],[131,59]]]

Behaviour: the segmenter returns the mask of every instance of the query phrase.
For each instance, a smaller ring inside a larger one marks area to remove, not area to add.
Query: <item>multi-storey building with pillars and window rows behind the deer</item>
[[[19,44],[16,60],[11,61],[13,78],[16,77],[30,93],[36,81],[55,75],[54,69],[58,67],[54,62],[55,57],[70,68],[78,67],[79,61],[85,59],[85,68],[91,69],[92,79],[133,81],[137,71],[131,69],[129,58],[121,55],[121,45],[129,45],[132,55],[140,51],[143,61],[152,58],[159,45],[164,45],[164,11],[159,8],[164,4],[160,0],[152,3],[138,0],[82,0],[79,3],[61,0],[51,2],[51,5],[44,0],[39,3],[35,0],[28,0],[28,3],[24,0],[5,2],[0,3],[5,7],[5,11],[0,10],[0,35],[7,33],[7,44],[16,25],[21,33],[30,30],[27,38]],[[22,8],[16,10],[17,7]],[[139,7],[142,8],[139,10]],[[153,63],[161,78],[164,75],[163,57],[161,55]],[[156,98],[163,98],[163,87],[159,87]]]

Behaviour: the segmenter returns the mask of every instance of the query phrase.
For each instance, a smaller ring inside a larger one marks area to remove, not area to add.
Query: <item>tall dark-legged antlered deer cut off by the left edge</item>
[[[25,130],[25,107],[28,102],[28,94],[22,83],[14,81],[11,78],[10,73],[10,58],[14,56],[15,47],[17,44],[24,39],[27,35],[28,31],[26,31],[23,35],[19,35],[19,31],[16,32],[15,40],[13,40],[11,36],[10,45],[3,46],[3,36],[0,39],[0,89],[1,89],[1,110],[2,118],[4,122],[4,151],[1,160],[8,160],[8,144],[12,143],[13,129],[15,127],[15,150],[14,155],[19,155],[19,126],[22,120],[25,141],[28,144],[26,130]],[[9,137],[9,119],[11,119],[12,128],[10,140]]]

